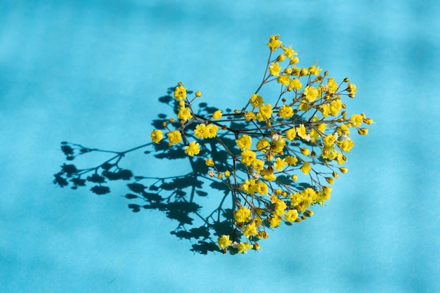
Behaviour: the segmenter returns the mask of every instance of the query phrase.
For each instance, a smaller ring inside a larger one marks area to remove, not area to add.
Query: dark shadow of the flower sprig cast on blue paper
[[[169,105],[176,113],[177,103],[171,96],[173,91],[174,88],[169,88],[167,95],[160,97],[159,100]],[[215,110],[207,107],[206,103],[200,103],[198,115],[209,115]],[[153,127],[163,129],[162,123],[166,119],[167,115],[157,115]],[[170,128],[179,126],[176,122],[169,124],[174,124]],[[192,131],[187,132],[192,133]],[[189,138],[190,141],[195,140],[193,137]],[[235,138],[222,136],[221,140],[231,150],[235,148]],[[198,254],[221,252],[216,244],[217,237],[228,235],[234,229],[233,196],[224,183],[207,174],[205,159],[212,158],[215,162],[225,162],[216,166],[220,171],[231,170],[231,167],[226,165],[228,153],[219,150],[216,141],[205,139],[198,142],[200,153],[194,157],[186,155],[181,144],[170,147],[163,141],[145,143],[122,152],[62,142],[60,148],[67,162],[53,175],[53,183],[62,188],[70,186],[74,190],[89,186],[92,193],[107,195],[111,193],[110,185],[115,184],[115,181],[124,181],[127,185],[127,193],[123,196],[132,201],[128,204],[131,211],[135,213],[161,211],[168,219],[177,223],[176,229],[170,233],[179,239],[189,240],[192,243],[190,249],[192,252]],[[120,167],[122,159],[129,153],[139,150],[143,150],[143,155],[153,156],[155,159],[175,160],[176,164],[189,162],[189,171],[179,176],[161,177],[154,176],[153,168],[150,168],[153,176],[150,174],[144,176]],[[95,167],[84,169],[72,164],[77,157],[92,156],[93,153],[97,155],[98,152],[101,155],[108,153],[110,158]]]

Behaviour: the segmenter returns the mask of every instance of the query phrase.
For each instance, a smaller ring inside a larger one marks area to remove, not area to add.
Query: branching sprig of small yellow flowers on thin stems
[[[176,119],[151,133],[152,141],[160,143],[166,132],[168,145],[181,145],[191,157],[200,153],[205,139],[228,153],[228,162],[214,156],[205,161],[208,175],[222,181],[233,196],[233,230],[218,238],[223,252],[259,249],[259,240],[266,239],[271,228],[312,216],[311,207],[323,205],[335,178],[348,171],[343,165],[354,146],[350,135],[368,134],[364,125],[373,123],[363,113],[347,114],[342,99],[356,94],[348,78],[338,83],[317,63],[299,67],[297,52],[284,46],[278,35],[267,45],[266,74],[245,107],[198,115],[192,107],[200,91],[189,98],[179,82],[174,89]],[[279,93],[259,95],[271,82],[280,86]],[[235,145],[226,143],[228,137]]]

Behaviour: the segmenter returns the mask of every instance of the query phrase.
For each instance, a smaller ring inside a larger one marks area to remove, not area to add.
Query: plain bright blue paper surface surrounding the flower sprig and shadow
[[[439,13],[435,0],[1,0],[0,292],[440,292]],[[200,255],[163,213],[127,209],[124,185],[52,185],[60,141],[148,141],[178,81],[242,106],[271,34],[350,77],[349,111],[376,122],[311,219],[258,253]]]

